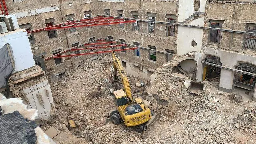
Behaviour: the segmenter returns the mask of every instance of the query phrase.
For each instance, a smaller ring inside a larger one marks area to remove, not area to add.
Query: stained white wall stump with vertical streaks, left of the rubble
[[[49,92],[48,96],[46,95],[45,89],[47,89]],[[49,120],[51,118],[51,115],[50,115],[52,110],[51,104],[54,105],[54,103],[53,103],[51,88],[47,78],[42,82],[39,82],[33,86],[24,88],[23,92],[25,93],[25,95],[29,100],[29,104],[26,104],[28,108],[37,109],[39,113],[39,118],[42,118],[44,120]],[[42,95],[42,100],[44,102],[43,105],[39,103],[36,94]]]

